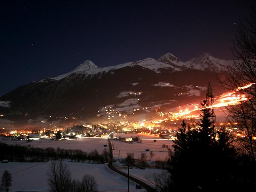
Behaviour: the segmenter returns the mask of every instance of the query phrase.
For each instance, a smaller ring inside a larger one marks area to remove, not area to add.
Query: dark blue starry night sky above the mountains
[[[104,67],[207,52],[232,59],[230,39],[252,12],[240,1],[1,1],[0,96],[69,72],[90,59]]]

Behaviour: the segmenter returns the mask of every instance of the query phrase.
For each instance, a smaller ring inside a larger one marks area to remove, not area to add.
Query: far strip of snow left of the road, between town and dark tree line
[[[106,148],[104,145],[108,145],[108,140],[106,138],[94,138],[94,137],[86,137],[86,138],[78,138],[77,140],[51,140],[51,139],[42,139],[42,140],[33,140],[32,142],[26,141],[14,141],[14,140],[6,140],[1,139],[0,142],[4,142],[6,144],[19,144],[21,146],[33,146],[39,148],[63,148],[63,149],[80,149],[84,152],[91,152],[96,149],[99,153],[102,153],[103,149]],[[108,150],[108,147],[107,147]]]

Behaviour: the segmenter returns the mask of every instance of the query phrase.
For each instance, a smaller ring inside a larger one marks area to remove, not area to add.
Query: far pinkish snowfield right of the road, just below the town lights
[[[166,157],[168,158],[168,149],[163,148],[162,145],[168,145],[169,148],[172,149],[173,141],[172,140],[162,140],[160,137],[156,137],[153,135],[147,135],[147,134],[121,134],[122,137],[134,137],[138,136],[140,139],[142,139],[141,143],[133,142],[133,143],[125,143],[123,141],[119,140],[111,140],[112,147],[114,147],[113,150],[113,156],[118,158],[119,151],[120,151],[120,157],[126,158],[127,153],[134,153],[134,158],[140,158],[140,154],[146,153],[149,160],[149,151],[146,151],[146,148],[150,149],[150,151],[153,151],[155,156],[152,158],[153,161],[156,159],[164,160]],[[118,138],[118,136],[117,136]],[[157,139],[156,142],[154,142],[154,139]],[[159,139],[159,140],[158,140]]]

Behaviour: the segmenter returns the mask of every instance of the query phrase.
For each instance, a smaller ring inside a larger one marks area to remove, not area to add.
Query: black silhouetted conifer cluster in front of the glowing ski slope
[[[220,130],[218,139],[204,100],[200,125],[186,130],[182,121],[174,141],[171,164],[172,189],[205,190],[231,188],[236,185],[236,152],[230,146],[230,136]]]

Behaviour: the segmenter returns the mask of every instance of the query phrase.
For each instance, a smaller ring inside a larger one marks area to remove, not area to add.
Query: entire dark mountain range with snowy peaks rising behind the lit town
[[[166,53],[158,59],[103,68],[86,60],[66,74],[19,86],[1,96],[0,118],[112,118],[106,110],[121,117],[134,114],[134,109],[144,109],[144,113],[168,110],[200,102],[208,82],[214,94],[222,93],[217,76],[225,78],[232,64],[207,53],[186,62]]]

